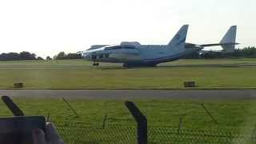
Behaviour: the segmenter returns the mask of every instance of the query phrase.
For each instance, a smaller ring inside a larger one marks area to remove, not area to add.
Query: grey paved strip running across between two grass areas
[[[0,90],[0,95],[18,98],[256,98],[256,90]]]

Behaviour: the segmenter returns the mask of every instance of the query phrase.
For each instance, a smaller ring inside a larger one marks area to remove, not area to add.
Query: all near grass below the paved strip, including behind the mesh
[[[48,115],[66,143],[136,143],[136,124],[121,100],[14,98],[26,115]],[[149,143],[253,143],[256,100],[134,99],[149,126]],[[210,111],[216,124],[200,105]],[[10,111],[0,102],[0,116]],[[106,128],[102,129],[107,114]],[[178,134],[182,118],[181,134]],[[86,124],[85,124],[86,123]],[[232,136],[230,136],[232,134]],[[245,138],[244,138],[245,137]]]

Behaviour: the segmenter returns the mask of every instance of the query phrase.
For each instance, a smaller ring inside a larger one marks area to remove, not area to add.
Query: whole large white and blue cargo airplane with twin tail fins
[[[234,51],[236,26],[231,26],[220,43],[196,45],[186,43],[188,25],[182,26],[167,45],[141,45],[139,42],[121,42],[118,45],[94,45],[82,51],[82,58],[98,62],[122,63],[125,67],[157,66],[162,62],[178,60],[188,54],[202,51],[206,46],[222,46],[223,52]]]

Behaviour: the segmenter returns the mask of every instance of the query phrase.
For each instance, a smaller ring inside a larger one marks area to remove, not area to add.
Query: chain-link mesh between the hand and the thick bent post
[[[54,122],[66,143],[136,143],[136,127]]]

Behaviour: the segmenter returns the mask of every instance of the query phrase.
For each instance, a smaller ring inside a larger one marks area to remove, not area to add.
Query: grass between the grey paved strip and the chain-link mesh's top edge
[[[77,118],[62,99],[14,98],[14,102],[27,115],[48,115],[54,122],[88,122],[101,125],[107,113],[107,123],[134,125],[134,119],[126,109],[123,101],[68,99],[70,105],[77,110]],[[218,100],[139,100],[134,102],[146,115],[150,126],[178,127],[179,118],[183,118],[182,128],[186,129],[245,129],[256,124],[256,101],[218,101]],[[214,123],[204,106],[218,124]],[[1,102],[1,116],[9,116],[10,111]]]

